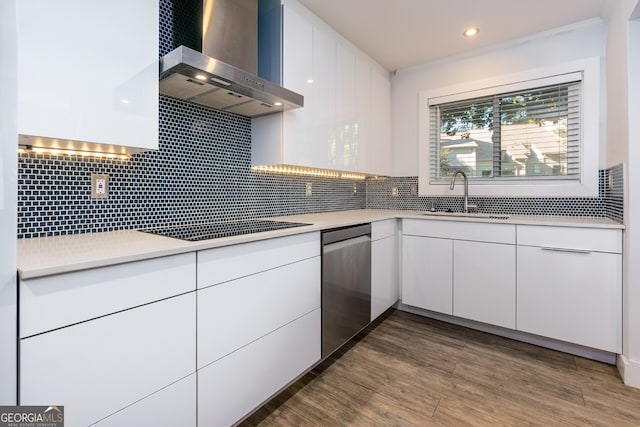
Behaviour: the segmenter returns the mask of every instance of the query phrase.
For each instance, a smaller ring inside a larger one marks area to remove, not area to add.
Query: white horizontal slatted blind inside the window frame
[[[429,107],[430,181],[579,179],[581,82]]]

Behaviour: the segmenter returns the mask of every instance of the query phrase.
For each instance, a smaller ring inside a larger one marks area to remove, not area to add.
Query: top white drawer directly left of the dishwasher
[[[320,233],[261,240],[198,252],[198,288],[320,256]]]

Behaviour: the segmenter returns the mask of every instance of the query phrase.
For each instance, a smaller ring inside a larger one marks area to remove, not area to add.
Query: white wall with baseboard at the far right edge
[[[607,166],[625,164],[623,350],[618,368],[640,387],[640,2],[611,3],[607,43]],[[630,20],[631,19],[631,20]]]

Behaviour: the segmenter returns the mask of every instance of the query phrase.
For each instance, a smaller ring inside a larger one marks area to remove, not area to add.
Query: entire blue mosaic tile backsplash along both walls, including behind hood
[[[198,2],[161,0],[160,55],[197,43]],[[129,160],[19,155],[18,238],[348,209],[459,209],[459,197],[418,197],[417,177],[351,181],[250,170],[250,119],[160,97],[159,149]],[[109,174],[109,199],[91,199],[92,173]],[[623,217],[622,166],[600,172],[597,198],[475,198],[492,213]],[[311,182],[313,194],[305,195]],[[355,185],[355,194],[354,194]],[[398,196],[391,196],[398,187]]]

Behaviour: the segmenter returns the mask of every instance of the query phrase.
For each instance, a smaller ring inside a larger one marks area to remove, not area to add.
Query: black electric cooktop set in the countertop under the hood
[[[242,234],[260,233],[263,231],[281,230],[283,228],[301,227],[301,222],[269,221],[250,219],[234,222],[212,222],[209,224],[180,225],[176,227],[159,227],[141,230],[145,233],[159,234],[174,239],[198,240],[217,239],[220,237],[240,236]]]

